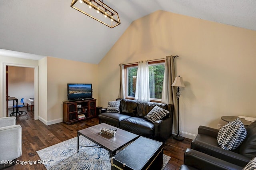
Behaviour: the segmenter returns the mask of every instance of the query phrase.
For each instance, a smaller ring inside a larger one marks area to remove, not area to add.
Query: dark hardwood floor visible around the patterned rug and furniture
[[[26,111],[26,108],[21,110]],[[46,126],[39,120],[34,120],[34,113],[27,111],[28,114],[18,115],[17,124],[22,126],[22,156],[19,161],[30,161],[30,164],[16,164],[5,168],[6,170],[45,170],[43,164],[33,164],[32,161],[40,160],[36,151],[57,144],[64,140],[76,137],[77,130],[81,130],[99,123],[98,118],[88,119],[78,123],[66,125],[57,123]],[[8,142],[8,141],[6,141]],[[169,138],[164,144],[164,154],[171,156],[170,161],[164,170],[178,170],[183,163],[183,155],[186,148],[190,147],[190,139],[177,141]]]

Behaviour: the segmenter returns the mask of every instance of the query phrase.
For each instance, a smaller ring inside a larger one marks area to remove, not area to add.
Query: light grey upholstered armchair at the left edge
[[[0,118],[0,160],[15,160],[22,154],[22,129],[16,117]]]

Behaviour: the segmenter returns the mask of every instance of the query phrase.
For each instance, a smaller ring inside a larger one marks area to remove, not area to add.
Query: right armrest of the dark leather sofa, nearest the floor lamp
[[[154,138],[168,139],[172,135],[172,115],[154,122]]]

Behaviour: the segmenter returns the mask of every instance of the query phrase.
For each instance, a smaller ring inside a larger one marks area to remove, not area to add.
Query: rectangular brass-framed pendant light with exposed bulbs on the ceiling
[[[118,13],[104,4],[103,0],[72,0],[71,7],[110,28],[120,24]]]

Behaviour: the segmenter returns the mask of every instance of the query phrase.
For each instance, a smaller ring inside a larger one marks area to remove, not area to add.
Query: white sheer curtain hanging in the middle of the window
[[[150,101],[147,61],[140,61],[138,63],[135,100]]]

